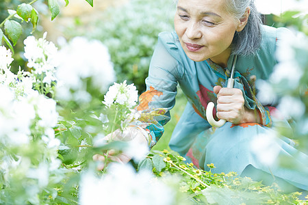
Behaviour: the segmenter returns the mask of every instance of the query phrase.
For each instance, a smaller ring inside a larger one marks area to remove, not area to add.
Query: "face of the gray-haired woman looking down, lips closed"
[[[229,49],[238,27],[224,9],[225,0],[179,0],[175,31],[186,55],[193,61],[211,59],[227,66]]]

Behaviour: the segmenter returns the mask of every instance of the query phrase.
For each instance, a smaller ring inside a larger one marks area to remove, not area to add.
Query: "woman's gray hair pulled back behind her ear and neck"
[[[246,12],[251,12],[244,29],[236,31],[232,41],[232,53],[237,55],[251,55],[257,52],[261,44],[261,15],[257,12],[254,0],[226,0],[227,11],[240,20]]]

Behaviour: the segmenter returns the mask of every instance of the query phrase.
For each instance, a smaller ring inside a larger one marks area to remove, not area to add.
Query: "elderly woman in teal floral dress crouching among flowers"
[[[170,139],[172,150],[202,169],[214,163],[215,172],[233,171],[255,180],[269,176],[307,190],[308,167],[301,163],[307,162],[307,155],[297,152],[290,139],[272,137],[274,124],[283,120],[274,115],[274,107],[262,105],[255,96],[255,79],[270,76],[285,32],[290,31],[261,25],[253,0],[179,0],[175,31],[158,37],[147,91],[136,107],[142,116],[130,128],[134,140],[150,148],[159,140],[179,83],[188,104]],[[226,82],[235,56],[235,83],[229,88]],[[216,117],[227,120],[220,128],[207,122],[210,101],[216,103]],[[253,150],[258,141],[270,141],[268,161]],[[303,169],[279,167],[281,156]],[[118,160],[128,161],[129,156],[122,154]]]

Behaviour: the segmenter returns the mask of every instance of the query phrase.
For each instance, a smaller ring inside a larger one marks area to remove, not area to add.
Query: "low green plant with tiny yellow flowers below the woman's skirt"
[[[285,194],[277,184],[264,186],[235,172],[215,174],[214,164],[209,171],[185,163],[177,152],[153,151],[138,164],[138,170],[151,170],[157,178],[179,176],[179,192],[187,195],[194,204],[301,204],[300,193]]]

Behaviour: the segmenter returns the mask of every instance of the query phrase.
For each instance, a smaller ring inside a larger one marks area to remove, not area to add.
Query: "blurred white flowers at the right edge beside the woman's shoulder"
[[[305,104],[300,95],[305,93],[307,83],[308,38],[303,33],[284,33],[277,42],[277,64],[268,81],[257,81],[258,97],[265,104],[277,102],[279,111],[285,118],[301,118],[305,113]],[[305,87],[306,86],[306,87]],[[299,94],[299,95],[298,95]]]

